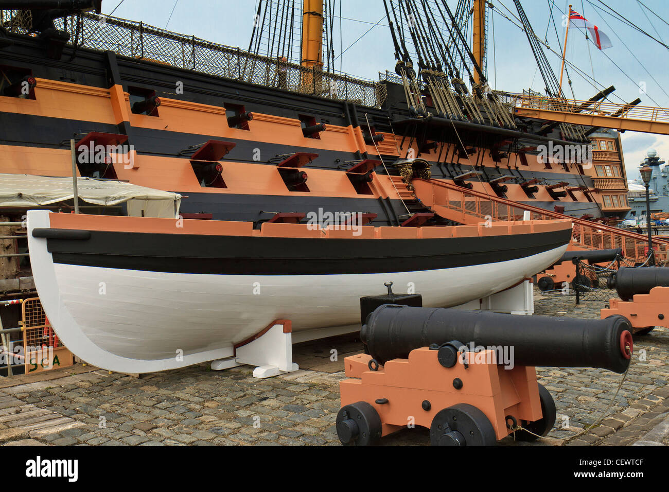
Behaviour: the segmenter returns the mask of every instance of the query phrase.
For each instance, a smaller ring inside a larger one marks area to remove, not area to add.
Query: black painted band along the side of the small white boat
[[[54,230],[33,234],[39,237],[49,231]],[[415,240],[91,231],[89,240],[48,239],[47,246],[58,264],[183,274],[326,275],[440,270],[518,260],[565,246],[570,238],[568,229]]]

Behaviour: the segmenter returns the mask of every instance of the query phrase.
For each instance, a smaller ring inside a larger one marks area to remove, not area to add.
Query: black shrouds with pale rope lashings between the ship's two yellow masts
[[[515,128],[510,108],[488,84],[464,31],[471,0],[453,13],[446,0],[384,0],[397,66],[409,109],[427,116],[425,96],[438,116]],[[477,82],[478,80],[478,82]]]

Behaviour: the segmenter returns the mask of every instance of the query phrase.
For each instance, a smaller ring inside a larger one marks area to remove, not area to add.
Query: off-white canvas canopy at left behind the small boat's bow
[[[88,177],[78,177],[77,187],[79,198],[94,205],[114,206],[127,203],[128,216],[179,216],[181,195],[178,193]],[[0,173],[0,208],[48,206],[73,198],[73,181],[70,177]]]

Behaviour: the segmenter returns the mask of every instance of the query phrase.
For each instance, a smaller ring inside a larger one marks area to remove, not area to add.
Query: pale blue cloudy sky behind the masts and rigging
[[[144,21],[185,35],[233,47],[248,47],[253,30],[258,0],[104,0],[102,12],[114,17]],[[332,0],[330,0],[332,1]],[[379,72],[394,71],[393,43],[385,19],[383,0],[335,0],[337,11],[341,1],[341,36],[339,20],[335,46],[344,48],[341,56],[343,72],[379,80]],[[601,86],[615,86],[611,102],[630,102],[641,98],[644,106],[669,108],[669,50],[650,37],[613,17],[613,11],[629,19],[640,29],[669,46],[669,2],[666,0],[571,0],[573,9],[597,25],[611,39],[613,46],[598,50],[585,39],[585,31],[570,29],[567,61],[594,78]],[[457,1],[448,0],[452,11]],[[516,25],[502,17],[517,15],[512,0],[494,0],[492,22],[488,29],[488,80],[490,85],[507,92],[532,88],[543,92],[545,84],[529,48],[527,37]],[[160,5],[160,8],[157,7]],[[648,9],[644,8],[646,5]],[[569,9],[565,0],[522,0],[535,33],[547,39],[555,52],[564,46],[563,13]],[[118,7],[118,8],[116,8]],[[505,8],[508,7],[508,10]],[[557,25],[558,35],[551,21]],[[490,9],[488,10],[490,12]],[[490,16],[488,17],[490,21]],[[369,30],[369,32],[367,32]],[[492,35],[494,31],[494,36]],[[366,33],[367,32],[367,33]],[[547,58],[559,78],[561,59],[548,52]],[[337,50],[339,55],[339,50]],[[339,63],[339,61],[338,61]],[[585,100],[601,88],[594,88],[575,68],[569,70],[575,97]],[[567,76],[565,74],[565,90]],[[568,94],[571,91],[567,90]],[[627,132],[622,136],[623,150],[630,179],[638,176],[639,163],[648,149],[669,161],[669,136]]]

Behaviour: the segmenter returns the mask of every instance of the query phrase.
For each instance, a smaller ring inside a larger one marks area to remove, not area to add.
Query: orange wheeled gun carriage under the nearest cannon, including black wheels
[[[408,424],[429,428],[432,444],[446,446],[490,446],[519,424],[540,435],[553,428],[555,403],[534,367],[505,370],[495,351],[458,352],[455,345],[415,349],[380,367],[371,355],[347,357],[351,379],[340,384],[337,418],[345,444],[372,444]],[[516,431],[519,440],[537,437]]]

